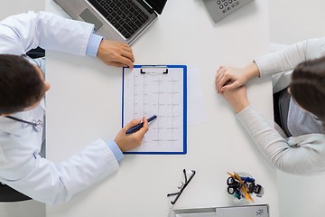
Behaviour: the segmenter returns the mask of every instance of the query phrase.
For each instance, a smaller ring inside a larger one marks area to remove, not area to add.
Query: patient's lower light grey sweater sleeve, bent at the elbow
[[[253,106],[240,111],[237,118],[255,146],[278,169],[290,174],[325,171],[324,135],[283,138]]]

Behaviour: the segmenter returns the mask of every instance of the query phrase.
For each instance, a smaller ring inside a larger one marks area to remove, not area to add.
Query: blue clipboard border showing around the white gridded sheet
[[[141,74],[145,73],[146,69],[149,68],[165,68],[165,71],[163,73],[170,73],[172,69],[182,69],[183,74],[183,134],[182,134],[182,151],[145,151],[145,152],[139,152],[139,151],[128,151],[124,152],[125,155],[186,155],[187,154],[187,66],[186,65],[135,65],[135,69],[141,68]],[[123,80],[122,80],[122,127],[124,127],[124,121],[125,121],[125,70],[129,69],[128,67],[123,68]],[[144,70],[144,72],[143,72]],[[142,118],[142,117],[139,117]],[[150,126],[149,126],[150,129]],[[142,146],[142,145],[141,145]]]

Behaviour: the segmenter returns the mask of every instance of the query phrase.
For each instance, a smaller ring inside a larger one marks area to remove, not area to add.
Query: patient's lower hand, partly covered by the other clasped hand
[[[232,108],[235,109],[236,113],[239,113],[249,106],[245,85],[233,90],[224,91],[222,96],[228,101]]]

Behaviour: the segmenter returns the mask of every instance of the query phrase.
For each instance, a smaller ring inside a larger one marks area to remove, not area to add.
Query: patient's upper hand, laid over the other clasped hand
[[[216,89],[218,93],[234,90],[244,85],[247,80],[253,79],[259,75],[260,73],[255,62],[244,68],[221,66],[216,74]]]

